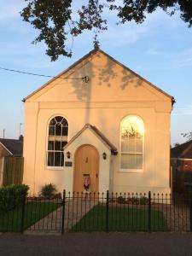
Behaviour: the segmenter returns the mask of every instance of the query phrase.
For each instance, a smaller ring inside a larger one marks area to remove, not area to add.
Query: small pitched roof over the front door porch
[[[73,141],[79,137],[79,135],[86,129],[90,129],[90,131],[93,131],[94,134],[96,134],[97,137],[99,137],[103,143],[107,144],[108,145],[108,148],[111,149],[111,153],[112,154],[118,154],[118,150],[116,147],[114,147],[114,145],[112,143],[110,143],[110,141],[108,140],[107,137],[105,137],[103,134],[102,134],[102,131],[99,131],[96,126],[93,126],[93,125],[90,125],[90,124],[86,124],[84,125],[84,127],[74,136],[72,137],[72,139],[66,144],[66,146],[64,147],[67,148],[68,145],[70,145],[71,143],[73,143]]]

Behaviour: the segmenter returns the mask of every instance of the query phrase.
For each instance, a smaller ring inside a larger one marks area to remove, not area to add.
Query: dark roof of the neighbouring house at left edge
[[[0,143],[12,155],[21,156],[23,154],[23,141],[22,140],[0,138]]]

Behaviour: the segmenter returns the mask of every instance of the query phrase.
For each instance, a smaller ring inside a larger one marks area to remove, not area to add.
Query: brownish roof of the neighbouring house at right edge
[[[192,159],[192,140],[171,148],[171,157]]]

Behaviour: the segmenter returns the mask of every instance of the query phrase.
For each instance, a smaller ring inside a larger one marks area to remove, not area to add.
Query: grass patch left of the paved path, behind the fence
[[[56,208],[61,207],[53,201],[28,201],[25,206],[24,230],[44,218]],[[22,207],[0,215],[0,232],[20,232]]]

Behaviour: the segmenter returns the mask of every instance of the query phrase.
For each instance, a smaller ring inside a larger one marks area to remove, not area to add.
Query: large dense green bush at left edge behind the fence
[[[9,185],[0,188],[0,214],[19,206],[29,187],[25,184]]]

